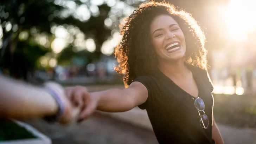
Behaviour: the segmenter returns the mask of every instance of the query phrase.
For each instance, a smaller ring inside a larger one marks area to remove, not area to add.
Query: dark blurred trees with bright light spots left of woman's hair
[[[37,68],[42,60],[43,66],[59,56],[60,63],[71,60],[79,51],[87,50],[89,61],[97,59],[121,18],[141,1],[1,0],[0,67],[14,76]],[[43,55],[46,58],[40,59]]]

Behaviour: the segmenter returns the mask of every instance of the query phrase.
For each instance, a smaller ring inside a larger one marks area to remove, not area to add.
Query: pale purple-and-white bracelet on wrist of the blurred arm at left
[[[45,83],[45,89],[56,100],[58,104],[58,112],[53,116],[44,117],[44,120],[46,120],[49,123],[59,122],[60,117],[65,115],[68,109],[62,98],[62,96],[64,96],[65,94],[64,89],[59,84],[53,82]]]

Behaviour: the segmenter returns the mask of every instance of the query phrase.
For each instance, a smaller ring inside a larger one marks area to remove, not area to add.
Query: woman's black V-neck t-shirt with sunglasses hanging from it
[[[159,69],[139,81],[148,90],[148,99],[139,105],[146,109],[159,144],[212,144],[213,86],[207,71],[187,65],[193,73],[199,94],[205,103],[209,126],[203,129],[193,96],[185,92]]]

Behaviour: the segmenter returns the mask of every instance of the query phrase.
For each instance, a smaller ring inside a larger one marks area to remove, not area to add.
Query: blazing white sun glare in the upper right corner
[[[255,5],[255,0],[230,0],[227,9],[227,20],[233,40],[247,41],[247,34],[255,31]]]

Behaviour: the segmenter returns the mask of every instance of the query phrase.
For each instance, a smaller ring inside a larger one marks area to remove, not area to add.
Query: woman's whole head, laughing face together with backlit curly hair
[[[125,74],[125,85],[154,70],[159,59],[183,57],[188,63],[206,70],[205,35],[197,21],[189,13],[178,11],[172,5],[150,4],[142,4],[120,25],[123,37],[115,50],[119,62],[115,70]],[[167,53],[164,46],[175,41],[181,45],[180,51]]]

